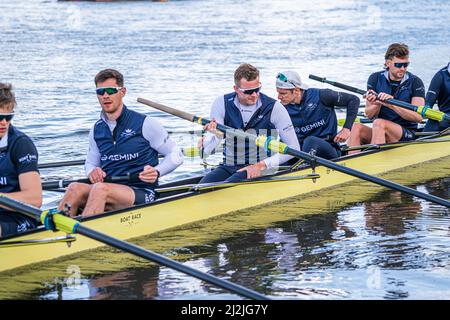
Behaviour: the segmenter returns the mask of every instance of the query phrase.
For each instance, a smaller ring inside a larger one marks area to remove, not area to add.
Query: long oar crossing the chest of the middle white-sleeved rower
[[[159,104],[159,103],[147,100],[147,99],[138,98],[137,101],[140,103],[143,103],[145,105],[148,105],[150,107],[153,107],[155,109],[161,110],[163,112],[172,114],[174,116],[183,118],[183,119],[191,121],[191,122],[196,122],[201,125],[205,125],[210,122],[210,120],[208,120],[208,119],[197,117],[190,113],[187,113],[187,112],[184,112],[181,110],[177,110],[174,108],[170,108],[170,107],[164,106],[162,104]],[[450,201],[448,201],[448,200],[433,196],[431,194],[426,194],[426,193],[402,186],[400,184],[397,184],[397,183],[394,183],[394,182],[391,182],[388,180],[384,180],[384,179],[381,179],[381,178],[378,178],[375,176],[371,176],[369,174],[363,173],[361,171],[358,171],[358,170],[355,170],[352,168],[344,167],[333,161],[326,160],[326,159],[323,159],[323,158],[320,158],[317,156],[313,156],[313,155],[303,152],[303,151],[298,151],[298,150],[292,149],[289,146],[287,146],[285,143],[277,141],[276,139],[273,139],[272,137],[255,136],[252,134],[245,133],[242,130],[233,129],[233,128],[230,128],[228,126],[225,126],[225,125],[222,125],[219,123],[217,124],[217,129],[222,132],[226,132],[227,134],[231,134],[232,136],[248,138],[249,140],[253,140],[257,146],[263,147],[266,150],[270,149],[274,152],[279,152],[281,154],[288,154],[288,155],[291,155],[291,156],[294,156],[297,158],[304,159],[304,160],[308,161],[309,163],[318,163],[327,168],[334,169],[336,171],[343,172],[348,175],[351,175],[351,176],[354,176],[354,177],[357,177],[357,178],[360,178],[360,179],[363,179],[366,181],[370,181],[370,182],[373,182],[373,183],[379,184],[381,186],[388,187],[388,188],[391,188],[391,189],[394,189],[394,190],[397,190],[400,192],[404,192],[404,193],[416,196],[418,198],[440,204],[445,207],[450,207]]]

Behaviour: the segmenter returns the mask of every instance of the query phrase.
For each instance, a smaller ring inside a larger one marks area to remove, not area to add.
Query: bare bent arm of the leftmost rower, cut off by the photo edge
[[[30,171],[20,174],[19,185],[20,191],[8,193],[7,196],[34,207],[42,205],[42,184],[38,172]]]

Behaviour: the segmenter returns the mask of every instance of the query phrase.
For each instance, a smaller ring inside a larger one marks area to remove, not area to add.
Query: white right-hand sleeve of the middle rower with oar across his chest
[[[286,108],[279,102],[275,102],[273,106],[270,121],[275,125],[275,128],[280,134],[280,140],[287,144],[290,148],[300,150],[300,144],[295,134],[294,126],[292,125],[291,117]],[[276,153],[273,156],[264,159],[267,168],[276,168],[279,165],[289,161],[293,156]]]

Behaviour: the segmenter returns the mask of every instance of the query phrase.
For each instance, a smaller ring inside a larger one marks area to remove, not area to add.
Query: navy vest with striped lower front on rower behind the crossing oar
[[[261,100],[262,105],[256,110],[247,125],[244,125],[241,112],[234,104],[235,98],[236,92],[224,96],[224,124],[226,126],[248,131],[257,135],[275,135],[273,130],[275,129],[275,126],[270,122],[273,106],[276,102],[275,99],[260,93],[259,99]],[[230,150],[230,147],[233,147],[233,150]],[[261,160],[261,153],[262,150],[260,150],[259,147],[256,147],[253,141],[248,141],[248,139],[240,141],[236,137],[233,137],[233,141],[230,141],[230,137],[228,137],[223,149],[223,161],[227,165],[253,164]],[[270,152],[267,155],[270,156]]]

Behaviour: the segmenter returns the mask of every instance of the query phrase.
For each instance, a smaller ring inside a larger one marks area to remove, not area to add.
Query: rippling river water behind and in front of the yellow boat
[[[0,0],[0,12],[0,81],[14,85],[14,124],[36,142],[41,163],[85,156],[89,129],[99,115],[93,78],[103,68],[124,74],[128,106],[157,117],[168,130],[185,130],[198,127],[140,105],[136,98],[208,115],[212,101],[232,90],[233,72],[242,62],[261,70],[263,91],[276,97],[275,75],[288,69],[303,79],[313,73],[364,88],[368,75],[381,70],[392,42],[410,46],[410,71],[427,87],[450,60],[450,5],[444,0],[319,0],[313,5],[301,0]],[[189,146],[197,138],[174,139]],[[186,158],[166,180],[203,170],[198,159]],[[73,178],[83,172],[69,167],[43,170],[42,175]],[[449,198],[448,175],[417,188]],[[395,192],[377,189],[367,195],[334,211],[322,208],[254,227],[233,224],[232,231],[214,239],[186,235],[186,244],[172,248],[162,243],[172,243],[176,236],[167,235],[155,248],[276,297],[448,299],[448,212]],[[291,210],[300,210],[302,204],[293,203],[297,209]],[[75,289],[61,280],[66,265],[63,273],[48,267],[43,270],[47,276],[21,280],[27,284],[21,290],[0,291],[0,296],[236,298],[166,268],[135,263],[120,270],[108,263],[93,270],[84,267]],[[50,276],[54,272],[59,276]]]

